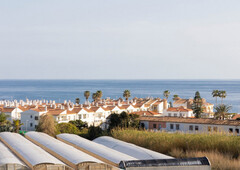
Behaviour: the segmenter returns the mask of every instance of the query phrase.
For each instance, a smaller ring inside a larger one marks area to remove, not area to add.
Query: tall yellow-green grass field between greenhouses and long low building
[[[213,169],[240,169],[240,137],[221,133],[184,134],[113,130],[114,138],[176,158],[209,158]]]

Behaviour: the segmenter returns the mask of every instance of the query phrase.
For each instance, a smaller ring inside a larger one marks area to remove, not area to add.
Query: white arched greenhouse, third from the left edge
[[[74,169],[113,169],[112,166],[103,163],[99,159],[96,159],[45,133],[27,132],[26,138]]]

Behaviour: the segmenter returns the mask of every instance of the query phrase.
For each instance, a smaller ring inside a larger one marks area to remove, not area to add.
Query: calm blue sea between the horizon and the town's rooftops
[[[181,98],[193,98],[199,91],[203,98],[215,104],[212,90],[226,90],[225,104],[232,105],[231,112],[240,113],[240,80],[0,80],[0,99],[48,99],[63,102],[79,97],[85,100],[84,91],[102,90],[103,97],[119,98],[125,89],[132,97],[160,97],[169,90]],[[218,99],[220,103],[221,99]]]

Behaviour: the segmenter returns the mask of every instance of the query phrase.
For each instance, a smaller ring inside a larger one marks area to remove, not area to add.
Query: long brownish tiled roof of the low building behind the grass
[[[189,124],[214,124],[214,125],[232,125],[240,126],[238,120],[217,120],[217,119],[197,119],[197,118],[180,118],[180,117],[156,117],[156,116],[142,116],[142,121],[156,121],[156,122],[176,122]]]

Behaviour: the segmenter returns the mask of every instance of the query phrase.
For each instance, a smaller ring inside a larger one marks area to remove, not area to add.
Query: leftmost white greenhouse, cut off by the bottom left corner
[[[0,170],[29,169],[6,145],[0,142]]]

